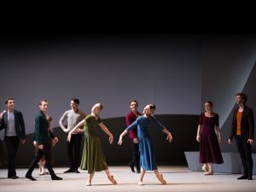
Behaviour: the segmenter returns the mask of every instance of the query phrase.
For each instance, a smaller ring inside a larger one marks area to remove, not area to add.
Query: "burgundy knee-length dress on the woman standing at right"
[[[218,126],[218,114],[213,117],[206,117],[201,113],[199,125],[202,125],[200,142],[200,163],[222,164],[223,158],[218,145],[218,138],[215,133],[215,125]]]

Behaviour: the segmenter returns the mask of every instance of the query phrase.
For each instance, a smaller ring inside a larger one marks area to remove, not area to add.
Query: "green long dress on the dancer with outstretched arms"
[[[101,172],[108,169],[108,165],[103,154],[102,143],[99,137],[94,135],[96,125],[102,120],[92,115],[85,117],[86,125],[84,125],[84,151],[81,160],[80,169],[88,170],[89,173]]]

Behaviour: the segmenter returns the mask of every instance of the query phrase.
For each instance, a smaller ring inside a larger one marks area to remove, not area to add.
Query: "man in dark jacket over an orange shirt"
[[[229,143],[232,143],[233,137],[236,138],[241,162],[243,166],[243,175],[237,179],[253,179],[253,158],[252,145],[254,138],[254,118],[252,108],[247,107],[247,95],[244,93],[236,94],[237,108],[233,114]]]

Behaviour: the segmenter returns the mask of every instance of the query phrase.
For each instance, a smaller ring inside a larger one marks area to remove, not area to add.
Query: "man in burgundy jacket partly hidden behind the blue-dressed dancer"
[[[132,100],[130,102],[131,111],[126,114],[126,125],[127,127],[131,125],[134,121],[136,121],[138,116],[141,116],[142,113],[137,111],[138,103],[137,100]],[[131,138],[131,148],[132,148],[132,160],[129,163],[131,167],[131,172],[134,171],[134,166],[136,166],[137,173],[140,173],[140,152],[139,152],[139,145],[137,140],[137,127],[131,129],[129,131],[129,137]]]

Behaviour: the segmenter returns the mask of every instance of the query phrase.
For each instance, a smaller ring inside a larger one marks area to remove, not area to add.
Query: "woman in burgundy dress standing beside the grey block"
[[[196,141],[200,143],[200,163],[204,164],[204,175],[213,175],[212,164],[222,164],[223,158],[218,143],[221,133],[218,127],[218,113],[213,113],[212,102],[205,103],[205,113],[201,113]],[[218,134],[218,138],[217,135]]]

